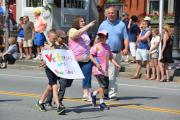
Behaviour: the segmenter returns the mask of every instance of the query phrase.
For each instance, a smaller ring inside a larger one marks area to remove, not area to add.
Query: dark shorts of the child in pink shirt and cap
[[[109,77],[104,75],[95,75],[95,77],[99,83],[99,87],[106,88],[109,86]]]

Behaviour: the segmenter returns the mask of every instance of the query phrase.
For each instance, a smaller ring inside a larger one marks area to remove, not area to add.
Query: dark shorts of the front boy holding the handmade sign
[[[57,84],[58,77],[46,66],[45,67],[46,76],[49,80],[49,85]]]

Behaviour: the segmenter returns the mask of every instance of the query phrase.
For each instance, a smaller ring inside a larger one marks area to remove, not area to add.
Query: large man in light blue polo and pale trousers
[[[117,10],[114,6],[107,8],[107,19],[104,20],[100,26],[99,30],[107,30],[108,39],[106,43],[110,46],[111,52],[113,53],[113,58],[118,64],[121,61],[121,53],[127,55],[128,53],[128,34],[126,30],[126,25],[123,21],[117,18]],[[122,47],[124,49],[121,51]],[[116,76],[118,74],[118,69],[109,62],[109,97],[117,97],[118,86]],[[108,97],[108,90],[105,90],[105,97]]]

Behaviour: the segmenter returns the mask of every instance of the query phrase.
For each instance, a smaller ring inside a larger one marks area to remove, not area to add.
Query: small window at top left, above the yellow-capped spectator
[[[26,7],[42,7],[43,0],[26,0]]]

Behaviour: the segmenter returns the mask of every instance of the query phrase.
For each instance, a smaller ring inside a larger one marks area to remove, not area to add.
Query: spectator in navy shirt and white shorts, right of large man
[[[129,48],[131,56],[133,57],[132,63],[135,63],[135,57],[136,57],[136,40],[137,36],[140,32],[140,29],[137,25],[138,17],[137,16],[131,16],[131,19],[129,20],[128,24],[128,36],[129,36]]]

